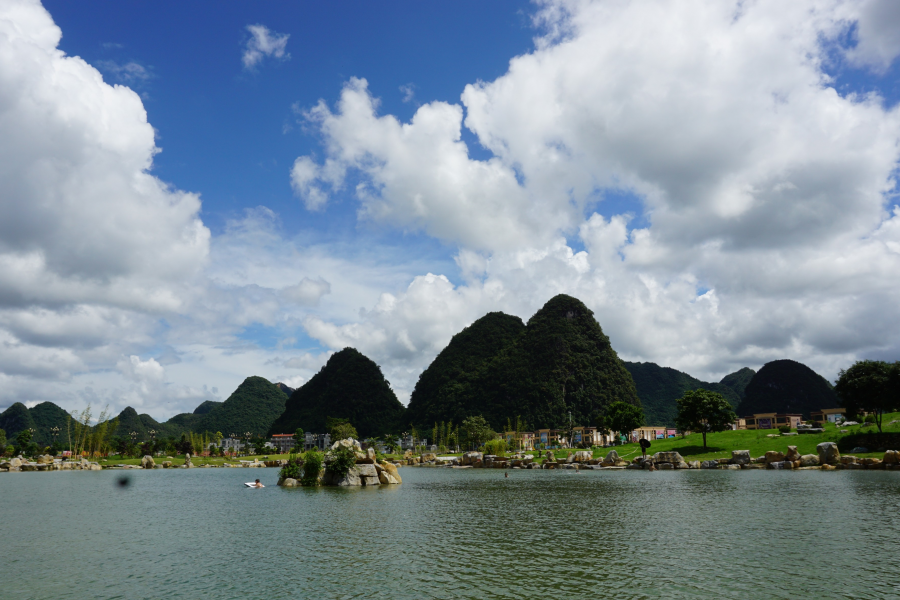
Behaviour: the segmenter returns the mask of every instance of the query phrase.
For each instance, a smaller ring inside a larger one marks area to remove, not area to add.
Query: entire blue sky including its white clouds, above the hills
[[[896,360],[898,31],[890,0],[11,0],[0,408],[167,418],[345,346],[405,402],[558,293],[706,380]]]

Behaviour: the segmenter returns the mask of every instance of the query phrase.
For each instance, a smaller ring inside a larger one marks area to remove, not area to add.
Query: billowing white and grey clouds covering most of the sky
[[[141,98],[60,51],[37,2],[4,3],[0,406],[167,417],[235,378],[299,385],[344,346],[405,401],[453,334],[558,293],[623,358],[701,378],[898,358],[900,109],[829,75],[893,64],[896,3],[548,1],[535,27],[501,77],[408,122],[364,74],[300,111],[321,143],[289,173],[306,209],[349,197],[366,227],[439,240],[454,284],[413,259],[298,244],[262,206],[213,235],[199,194],[152,175]],[[247,30],[244,68],[289,56],[288,34]],[[320,348],[236,343],[255,326]]]

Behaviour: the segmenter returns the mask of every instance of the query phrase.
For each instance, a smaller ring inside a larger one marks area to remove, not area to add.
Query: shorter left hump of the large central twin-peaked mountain
[[[422,430],[434,423],[461,423],[472,416],[479,381],[491,360],[525,331],[522,319],[502,312],[481,317],[453,336],[422,372],[409,399],[405,421]]]

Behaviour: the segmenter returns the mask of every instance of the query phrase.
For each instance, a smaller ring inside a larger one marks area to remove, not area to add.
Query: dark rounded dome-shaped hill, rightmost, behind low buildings
[[[824,377],[793,360],[766,363],[747,384],[739,416],[779,412],[802,414],[822,408],[837,408],[837,394]]]

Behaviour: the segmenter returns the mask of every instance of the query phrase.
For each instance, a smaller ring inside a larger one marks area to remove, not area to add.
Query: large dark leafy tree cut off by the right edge
[[[881,431],[884,413],[900,406],[900,363],[860,360],[838,374],[834,391],[848,415],[872,413]]]

